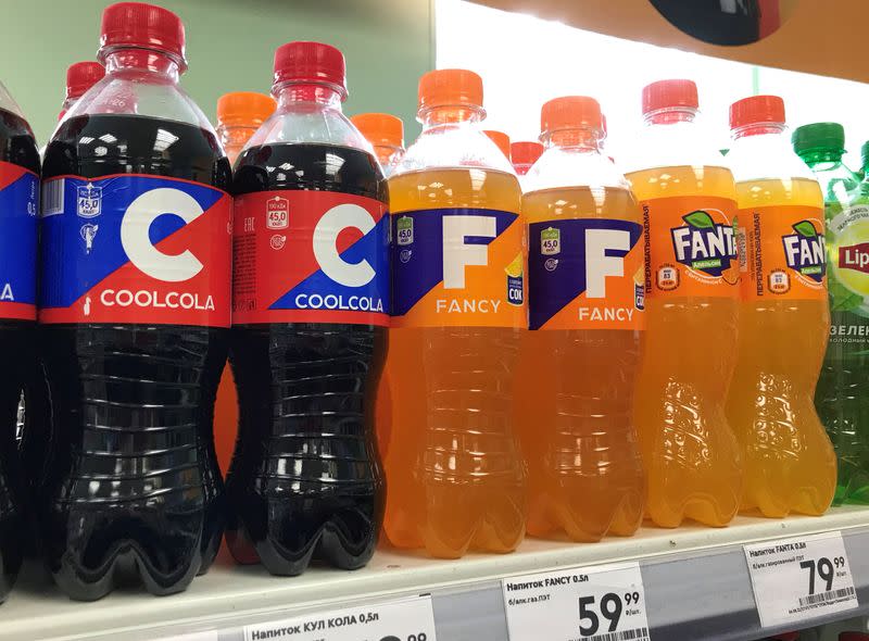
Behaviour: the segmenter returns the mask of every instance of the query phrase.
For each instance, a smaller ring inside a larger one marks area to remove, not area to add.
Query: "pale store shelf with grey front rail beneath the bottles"
[[[760,626],[742,544],[831,530],[842,531],[860,602],[847,616],[869,614],[869,510],[841,507],[821,518],[739,517],[722,529],[644,528],[596,544],[528,539],[514,554],[461,561],[381,550],[364,569],[312,568],[297,578],[270,577],[222,556],[187,592],[168,598],[129,588],[75,603],[30,571],[0,606],[0,639],[136,641],[217,630],[221,641],[239,641],[245,624],[430,593],[438,641],[502,641],[502,577],[622,560],[641,562],[653,640],[755,639]]]

